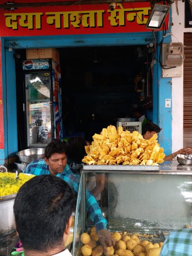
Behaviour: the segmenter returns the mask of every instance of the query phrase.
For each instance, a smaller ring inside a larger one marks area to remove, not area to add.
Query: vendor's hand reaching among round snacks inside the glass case
[[[102,229],[98,233],[99,243],[102,245],[105,255],[108,255],[107,247],[111,247],[115,245],[115,241],[111,236],[111,233],[106,230]]]

